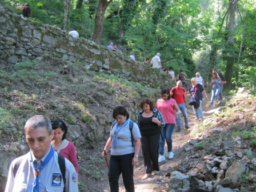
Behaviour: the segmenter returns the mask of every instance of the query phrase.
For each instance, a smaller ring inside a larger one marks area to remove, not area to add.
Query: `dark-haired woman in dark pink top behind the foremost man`
[[[78,173],[78,162],[77,154],[74,144],[71,141],[67,141],[67,126],[65,122],[55,119],[51,121],[51,126],[53,127],[53,140],[51,145],[57,153],[66,157],[75,167]]]

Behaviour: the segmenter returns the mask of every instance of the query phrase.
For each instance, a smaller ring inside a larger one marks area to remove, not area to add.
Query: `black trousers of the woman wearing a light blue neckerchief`
[[[133,160],[134,153],[126,155],[111,155],[109,161],[109,185],[111,192],[118,192],[119,175],[122,173],[123,184],[127,192],[134,192],[134,181],[133,181]]]

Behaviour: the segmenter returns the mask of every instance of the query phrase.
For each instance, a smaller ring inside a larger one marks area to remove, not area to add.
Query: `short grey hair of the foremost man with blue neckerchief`
[[[53,130],[51,128],[51,121],[49,118],[47,118],[45,115],[35,115],[33,117],[30,117],[29,120],[27,120],[24,129],[27,128],[30,129],[37,129],[38,127],[46,127],[47,132],[49,135],[51,134],[51,131]]]

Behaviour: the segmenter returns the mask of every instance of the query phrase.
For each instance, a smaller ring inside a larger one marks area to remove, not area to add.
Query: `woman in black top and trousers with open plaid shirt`
[[[139,104],[141,111],[138,113],[138,126],[141,131],[141,146],[146,167],[143,180],[150,177],[152,172],[159,173],[158,149],[159,136],[165,127],[162,113],[154,108],[154,102],[150,98],[143,98]]]

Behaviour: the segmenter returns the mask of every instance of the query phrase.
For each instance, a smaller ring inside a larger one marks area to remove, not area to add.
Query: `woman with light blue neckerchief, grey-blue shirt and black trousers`
[[[141,133],[137,123],[129,119],[129,113],[123,106],[115,107],[110,130],[110,137],[102,152],[107,158],[107,151],[111,147],[109,162],[109,185],[111,192],[118,192],[119,175],[122,173],[123,183],[127,192],[134,192],[133,166],[138,163],[141,149]],[[131,129],[130,129],[130,124]]]

